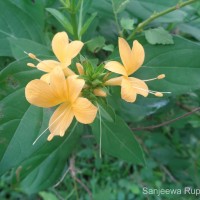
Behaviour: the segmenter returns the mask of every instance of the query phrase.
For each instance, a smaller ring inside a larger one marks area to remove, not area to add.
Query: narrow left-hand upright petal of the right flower
[[[129,44],[126,42],[126,40],[123,38],[119,37],[118,43],[119,43],[119,53],[122,63],[126,71],[128,72],[133,66],[131,62],[131,48]]]

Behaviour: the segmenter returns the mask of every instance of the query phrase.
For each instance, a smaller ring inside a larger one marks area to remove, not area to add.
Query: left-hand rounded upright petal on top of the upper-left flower
[[[52,49],[60,62],[65,62],[67,58],[67,45],[69,44],[66,32],[57,33],[52,40]]]

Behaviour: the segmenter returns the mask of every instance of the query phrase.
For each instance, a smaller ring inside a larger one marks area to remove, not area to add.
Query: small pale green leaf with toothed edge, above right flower
[[[174,44],[172,36],[162,27],[146,30],[144,34],[150,44]]]

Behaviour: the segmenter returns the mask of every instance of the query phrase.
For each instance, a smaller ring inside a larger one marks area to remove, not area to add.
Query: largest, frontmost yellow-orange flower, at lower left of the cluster
[[[50,74],[50,83],[43,80],[33,80],[25,88],[26,99],[33,105],[49,108],[58,106],[49,121],[51,134],[63,136],[73,118],[83,124],[92,123],[97,114],[97,108],[86,98],[80,97],[85,82],[76,75],[65,79],[61,68],[55,68]]]

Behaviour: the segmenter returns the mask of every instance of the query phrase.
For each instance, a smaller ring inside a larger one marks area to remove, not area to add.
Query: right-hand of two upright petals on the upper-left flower
[[[66,51],[67,51],[67,59],[72,59],[75,56],[78,55],[78,53],[81,51],[83,47],[83,42],[81,41],[72,41],[70,44],[67,45]]]

